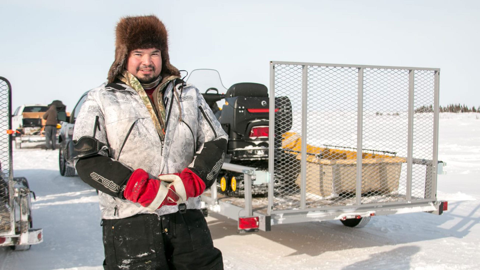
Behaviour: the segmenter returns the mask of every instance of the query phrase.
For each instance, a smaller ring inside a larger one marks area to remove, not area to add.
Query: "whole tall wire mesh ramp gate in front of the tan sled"
[[[436,70],[273,63],[272,211],[434,198]]]

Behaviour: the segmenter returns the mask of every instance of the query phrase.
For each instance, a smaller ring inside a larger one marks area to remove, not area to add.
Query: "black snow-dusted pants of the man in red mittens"
[[[198,209],[102,220],[105,270],[223,270]]]

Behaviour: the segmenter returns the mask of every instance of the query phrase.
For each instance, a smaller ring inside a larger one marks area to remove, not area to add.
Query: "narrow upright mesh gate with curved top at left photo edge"
[[[0,77],[0,235],[9,234],[13,230],[13,202],[10,198],[12,147],[11,135],[7,133],[11,129],[10,91],[8,80]]]

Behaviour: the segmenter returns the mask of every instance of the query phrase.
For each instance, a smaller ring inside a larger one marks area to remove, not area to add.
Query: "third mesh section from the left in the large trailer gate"
[[[362,203],[406,199],[408,75],[403,69],[364,69],[362,148],[372,156],[362,156]]]

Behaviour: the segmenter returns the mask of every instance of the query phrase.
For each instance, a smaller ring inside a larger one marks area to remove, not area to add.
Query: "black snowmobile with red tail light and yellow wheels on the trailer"
[[[225,162],[242,166],[254,167],[259,171],[268,171],[268,118],[269,97],[267,87],[258,83],[236,83],[228,89],[223,86],[220,74],[212,69],[196,69],[187,79],[196,86],[214,112],[223,130],[228,135],[228,147]],[[225,94],[224,94],[225,93]],[[221,103],[224,101],[224,104]],[[220,104],[219,104],[220,103]],[[280,150],[282,134],[291,129],[292,105],[288,97],[275,98],[276,119],[281,124],[275,134],[275,149]],[[289,175],[275,175],[277,189],[291,186],[284,183],[285,179],[295,179],[300,172],[300,161],[295,161],[291,155],[293,166]],[[276,163],[284,162],[275,160]],[[217,177],[217,190],[228,196],[244,195],[244,174],[222,170]],[[280,190],[277,190],[280,191]],[[252,195],[265,196],[268,193],[268,183],[253,181]]]

